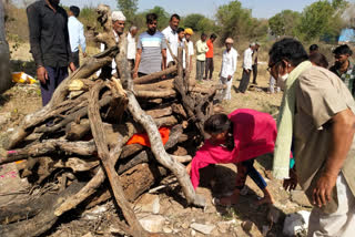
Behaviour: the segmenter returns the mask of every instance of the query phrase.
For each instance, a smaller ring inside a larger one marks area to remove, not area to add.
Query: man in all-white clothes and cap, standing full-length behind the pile
[[[232,89],[232,81],[233,75],[236,71],[236,63],[237,63],[237,52],[233,48],[233,39],[227,38],[225,40],[225,50],[223,51],[222,55],[222,66],[220,72],[220,82],[221,84],[225,84],[226,89],[222,91],[223,100],[231,100],[231,89]]]

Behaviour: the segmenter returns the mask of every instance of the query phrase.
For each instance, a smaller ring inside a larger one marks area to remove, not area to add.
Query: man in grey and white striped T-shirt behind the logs
[[[138,41],[133,78],[166,69],[166,43],[164,35],[156,30],[156,23],[155,13],[146,14],[148,30]]]

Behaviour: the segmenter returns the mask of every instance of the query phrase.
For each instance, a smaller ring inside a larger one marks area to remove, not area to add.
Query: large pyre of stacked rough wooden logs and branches
[[[109,7],[99,6],[98,14],[104,32],[97,39],[108,50],[65,79],[47,106],[26,116],[0,161],[1,165],[24,159],[19,164],[21,176],[42,187],[55,182],[55,194],[0,207],[0,236],[39,236],[64,213],[111,197],[125,220],[116,221],[122,231],[151,236],[129,202],[168,173],[176,176],[187,204],[205,205],[182,163],[191,159],[203,141],[203,123],[213,112],[219,86],[194,85],[190,72],[182,69],[183,49],[179,49],[175,66],[132,80],[125,35],[116,45]],[[92,80],[112,59],[120,79]],[[165,144],[159,127],[170,130]],[[126,145],[136,133],[148,134],[150,146]]]

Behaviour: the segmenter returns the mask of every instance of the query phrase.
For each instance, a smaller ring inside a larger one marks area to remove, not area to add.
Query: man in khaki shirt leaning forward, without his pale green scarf
[[[354,236],[355,102],[352,94],[335,74],[307,62],[303,45],[293,39],[283,39],[273,45],[268,71],[276,80],[285,81],[287,96],[283,104],[288,100],[288,109],[294,109],[292,125],[287,128],[293,131],[296,164],[284,186],[293,189],[298,183],[314,205],[308,236]]]

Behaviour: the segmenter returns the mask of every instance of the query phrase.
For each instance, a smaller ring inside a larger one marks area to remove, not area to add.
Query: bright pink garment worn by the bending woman
[[[274,152],[276,140],[275,120],[266,113],[240,109],[229,115],[233,123],[235,147],[233,151],[221,145],[212,145],[209,140],[196,152],[191,164],[191,182],[199,186],[199,169],[210,164],[240,163]]]

